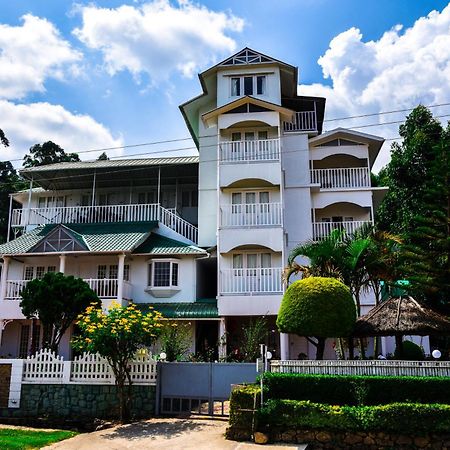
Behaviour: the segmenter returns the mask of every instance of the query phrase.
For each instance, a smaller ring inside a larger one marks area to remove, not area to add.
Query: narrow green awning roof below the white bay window
[[[186,303],[136,303],[142,312],[159,311],[166,319],[217,319],[217,300]]]

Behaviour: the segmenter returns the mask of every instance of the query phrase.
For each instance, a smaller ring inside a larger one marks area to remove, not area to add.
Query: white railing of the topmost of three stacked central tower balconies
[[[221,142],[219,146],[220,161],[223,163],[278,161],[280,159],[279,139],[229,141]]]

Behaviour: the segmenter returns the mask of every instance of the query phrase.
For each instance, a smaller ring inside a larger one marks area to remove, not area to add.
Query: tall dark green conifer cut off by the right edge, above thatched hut
[[[413,218],[405,248],[405,272],[413,295],[450,312],[450,125],[434,147],[424,190],[425,208]]]

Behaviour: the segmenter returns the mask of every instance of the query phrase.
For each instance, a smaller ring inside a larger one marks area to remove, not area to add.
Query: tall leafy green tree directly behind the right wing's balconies
[[[380,171],[378,180],[389,187],[378,208],[376,222],[380,229],[405,235],[414,217],[426,210],[424,191],[434,158],[433,148],[442,137],[443,128],[431,112],[417,106],[400,125],[401,143],[391,146],[391,161]]]

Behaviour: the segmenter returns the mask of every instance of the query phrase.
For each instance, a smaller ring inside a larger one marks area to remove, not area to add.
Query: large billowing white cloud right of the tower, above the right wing
[[[328,118],[450,102],[450,5],[421,17],[404,31],[397,25],[376,41],[364,42],[360,30],[350,28],[330,42],[318,63],[332,86],[301,85],[299,94],[326,97]],[[449,114],[450,108],[433,112]],[[328,122],[326,129],[404,117],[395,114]],[[398,125],[358,130],[384,137],[398,135]],[[385,144],[376,169],[388,162],[389,146],[390,142]]]

